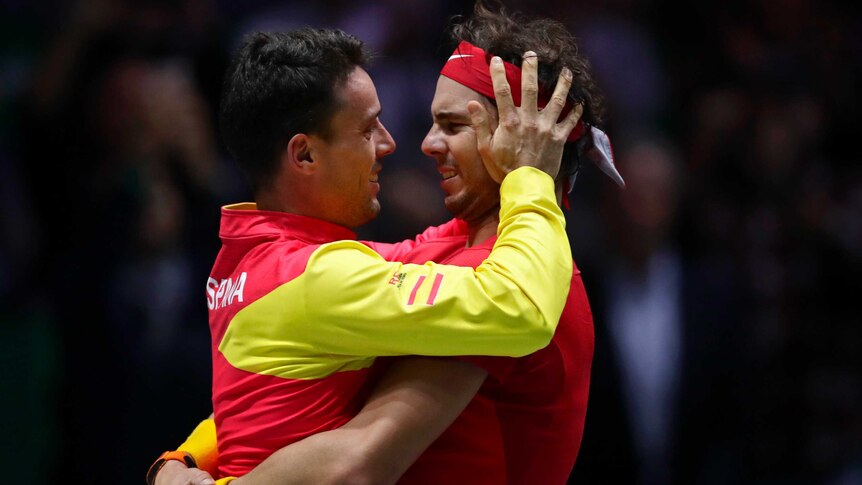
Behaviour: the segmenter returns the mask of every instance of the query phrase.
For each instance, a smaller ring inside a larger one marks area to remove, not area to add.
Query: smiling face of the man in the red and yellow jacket
[[[310,136],[310,157],[319,163],[321,218],[358,227],[380,212],[377,193],[380,159],[395,151],[395,141],[380,122],[377,90],[357,67],[336,88],[340,107],[332,116],[329,136]]]

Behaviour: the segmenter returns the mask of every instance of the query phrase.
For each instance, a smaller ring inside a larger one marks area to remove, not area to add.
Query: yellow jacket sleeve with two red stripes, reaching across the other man
[[[219,349],[239,368],[290,376],[290,366],[324,356],[521,356],[545,347],[572,275],[554,181],[515,170],[500,205],[497,243],[475,270],[387,262],[355,241],[327,244],[303,275],[241,310]],[[250,357],[252,348],[265,355]],[[273,356],[284,355],[300,358],[274,369]]]

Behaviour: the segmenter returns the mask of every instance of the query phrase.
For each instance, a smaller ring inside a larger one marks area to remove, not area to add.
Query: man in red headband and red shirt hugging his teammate
[[[539,41],[539,32],[551,42]],[[431,107],[434,123],[422,149],[436,161],[446,207],[464,230],[428,238],[404,259],[475,267],[488,257],[497,241],[499,223],[499,184],[494,181],[499,175],[486,170],[484,149],[480,148],[490,137],[480,121],[489,118],[493,126],[498,117],[491,54],[505,60],[494,69],[505,72],[515,105],[521,104],[524,73],[518,65],[523,52],[538,53],[539,96],[534,102],[540,107],[550,101],[564,67],[573,72],[564,112],[583,110],[583,117],[563,150],[563,168],[556,184],[558,202],[565,200],[582,159],[599,164],[614,181],[622,183],[622,179],[613,168],[607,137],[593,126],[601,106],[588,66],[576,55],[574,41],[561,24],[522,22],[479,4],[473,18],[454,28],[453,37],[459,45],[441,71]],[[427,419],[414,421],[396,421],[382,412],[383,406],[373,397],[344,427],[282,449],[239,482],[338,483],[351,479],[390,483],[401,477],[402,483],[411,484],[563,483],[583,432],[592,352],[592,317],[575,269],[566,307],[548,347],[521,358],[438,361],[438,365],[451,366],[452,386],[469,381],[476,372],[487,378],[464,412],[436,441],[439,418],[445,410],[439,404],[435,407],[434,396],[428,396],[430,403],[409,403],[425,410]],[[406,367],[423,362],[427,361],[400,358],[390,373],[403,373]],[[421,380],[419,384],[401,385],[421,386]],[[397,386],[384,381],[385,386],[389,387],[378,396],[397,394]],[[210,442],[209,449],[213,447]],[[425,447],[427,450],[413,463],[416,453]],[[192,476],[195,472],[188,473]]]

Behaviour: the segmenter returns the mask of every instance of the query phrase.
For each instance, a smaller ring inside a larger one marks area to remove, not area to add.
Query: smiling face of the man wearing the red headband
[[[437,81],[431,102],[433,125],[422,140],[422,151],[437,162],[445,192],[446,209],[471,226],[496,219],[500,186],[495,183],[479,155],[467,103],[479,101],[493,117],[496,108],[481,94],[445,76]],[[492,119],[491,129],[496,125]]]

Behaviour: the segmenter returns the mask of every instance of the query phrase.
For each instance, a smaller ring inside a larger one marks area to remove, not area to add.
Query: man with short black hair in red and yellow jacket
[[[535,59],[528,56],[524,106],[516,108],[499,63],[495,84],[508,122],[492,134],[487,113],[478,103],[471,108],[483,134],[478,149],[502,182],[499,239],[488,259],[475,270],[393,263],[384,257],[402,259],[425,240],[465,228],[454,221],[396,245],[351,240],[348,228],[379,210],[379,160],[394,149],[373,83],[349,56],[353,41],[311,29],[258,34],[225,82],[225,139],[248,171],[258,205],[223,209],[223,247],[207,285],[222,476],[243,475],[314,433],[349,430],[342,425],[365,401],[376,356],[525,355],[547,345],[562,312],[571,255],[547,174],[556,175],[562,142],[581,112],[571,110],[558,123],[571,76],[560,77],[560,102],[539,111]],[[344,55],[345,69],[321,76],[314,66],[330,62],[331,48]],[[324,87],[312,88],[316,103],[287,99],[291,79],[321,80]],[[332,106],[328,123],[320,122],[325,115],[317,110]],[[466,377],[453,378],[452,365]],[[429,421],[439,434],[481,385],[484,371],[474,368],[434,359],[418,368],[396,363],[368,402],[392,409],[395,421],[428,426],[420,407],[404,404],[433,396],[440,412]],[[422,386],[399,387],[419,375]],[[418,451],[409,452],[415,459]]]

